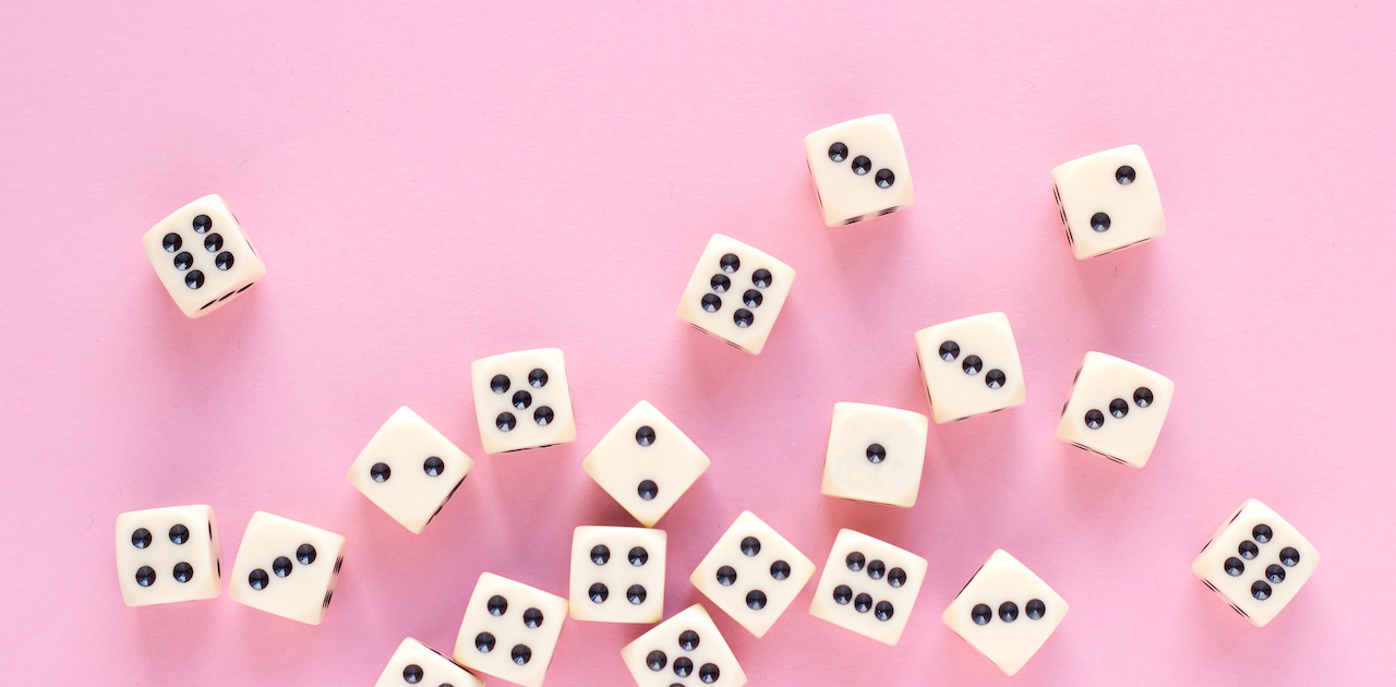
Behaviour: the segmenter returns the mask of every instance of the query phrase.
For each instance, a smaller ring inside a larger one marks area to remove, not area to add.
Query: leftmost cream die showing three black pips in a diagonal
[[[244,606],[318,626],[345,561],[345,538],[257,511],[233,561],[228,596]]]

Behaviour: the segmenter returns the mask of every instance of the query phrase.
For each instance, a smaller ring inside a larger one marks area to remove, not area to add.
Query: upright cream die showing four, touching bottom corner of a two
[[[574,529],[567,605],[572,620],[659,623],[667,542],[662,529]]]

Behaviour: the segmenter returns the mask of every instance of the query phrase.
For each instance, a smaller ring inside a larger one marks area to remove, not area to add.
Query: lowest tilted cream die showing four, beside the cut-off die
[[[455,640],[455,662],[525,687],[539,687],[567,620],[567,599],[484,572]]]

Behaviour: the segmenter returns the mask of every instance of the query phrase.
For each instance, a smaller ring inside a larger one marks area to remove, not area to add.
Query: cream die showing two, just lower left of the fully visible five
[[[475,461],[402,406],[349,466],[349,483],[412,533],[436,518]]]

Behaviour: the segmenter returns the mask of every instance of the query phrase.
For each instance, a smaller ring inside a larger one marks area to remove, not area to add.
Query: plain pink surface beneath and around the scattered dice
[[[754,684],[1005,683],[940,621],[995,547],[1072,606],[1020,684],[1389,680],[1392,4],[283,4],[0,6],[6,681],[370,684],[403,635],[448,651],[480,571],[561,593],[572,526],[634,524],[579,464],[639,399],[713,459],[660,522],[667,613],[743,508],[821,568],[840,526],[931,561],[896,648],[808,616],[812,582],[761,641],[718,613]],[[801,138],[878,112],[920,200],[825,229]],[[1078,263],[1048,170],[1127,142],[1168,235]],[[137,243],[205,193],[269,275],[191,321]],[[673,316],[713,232],[800,272],[759,357]],[[924,412],[912,332],[990,310],[1027,404],[933,427],[912,510],[819,496],[833,402]],[[535,346],[578,441],[483,455],[469,363]],[[1053,436],[1090,349],[1178,384],[1143,471]],[[343,475],[402,404],[477,459],[420,536]],[[1188,570],[1247,497],[1323,554],[1262,630]],[[116,514],[186,503],[225,564],[255,510],[348,535],[325,624],[123,606]],[[642,630],[570,621],[549,684],[630,684]]]

